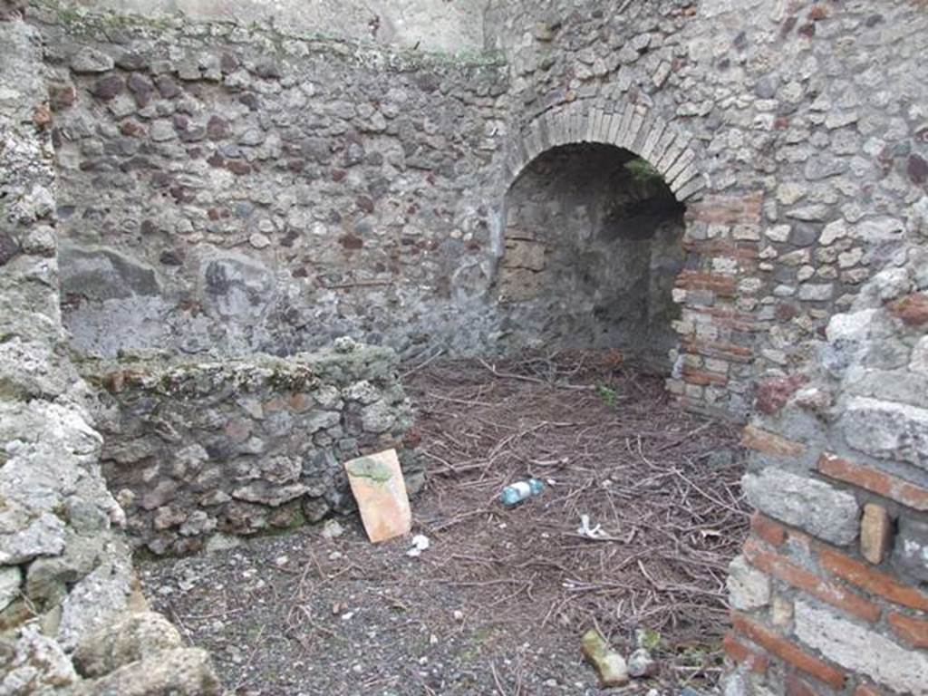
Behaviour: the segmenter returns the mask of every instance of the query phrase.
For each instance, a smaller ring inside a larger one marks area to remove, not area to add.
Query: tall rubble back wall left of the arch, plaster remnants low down
[[[85,354],[492,345],[496,58],[44,3]]]

